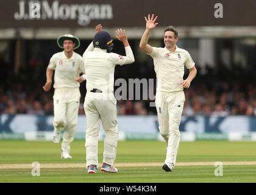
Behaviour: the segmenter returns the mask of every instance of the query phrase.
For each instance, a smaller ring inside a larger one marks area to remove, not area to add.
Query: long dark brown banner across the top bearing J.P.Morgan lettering
[[[149,13],[162,27],[256,26],[255,7],[255,0],[0,0],[0,29],[144,28]]]

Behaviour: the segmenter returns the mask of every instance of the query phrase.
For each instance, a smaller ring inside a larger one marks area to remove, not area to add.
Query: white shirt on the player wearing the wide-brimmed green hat
[[[48,65],[49,69],[55,70],[54,88],[79,88],[76,81],[80,73],[85,73],[84,60],[81,55],[73,52],[70,59],[64,51],[52,55]]]

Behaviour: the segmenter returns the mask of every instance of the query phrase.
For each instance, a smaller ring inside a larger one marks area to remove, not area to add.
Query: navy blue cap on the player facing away
[[[110,34],[106,31],[98,32],[93,39],[93,46],[94,48],[98,47],[101,49],[112,49],[113,43]],[[111,50],[110,49],[110,50]]]

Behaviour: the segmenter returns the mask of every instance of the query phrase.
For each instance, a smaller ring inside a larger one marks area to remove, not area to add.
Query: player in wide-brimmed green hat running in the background
[[[44,91],[49,91],[54,74],[54,143],[60,142],[60,132],[63,133],[61,158],[72,158],[69,155],[71,141],[77,126],[77,116],[80,101],[80,83],[85,80],[84,59],[74,52],[79,48],[80,41],[73,35],[63,35],[57,40],[63,52],[52,55],[46,69]],[[82,76],[79,76],[82,73]]]

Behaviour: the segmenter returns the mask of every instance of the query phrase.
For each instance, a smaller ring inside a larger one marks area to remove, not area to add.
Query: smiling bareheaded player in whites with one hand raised
[[[154,18],[148,15],[146,30],[140,41],[140,48],[154,59],[154,69],[157,76],[157,93],[155,107],[159,121],[160,134],[166,141],[166,160],[162,169],[172,171],[180,141],[179,125],[182,116],[185,96],[183,88],[189,88],[196,76],[196,68],[190,54],[185,49],[177,47],[178,32],[174,27],[165,29],[165,48],[154,48],[148,44],[149,34],[157,26]],[[190,70],[187,79],[183,80],[184,65]]]

